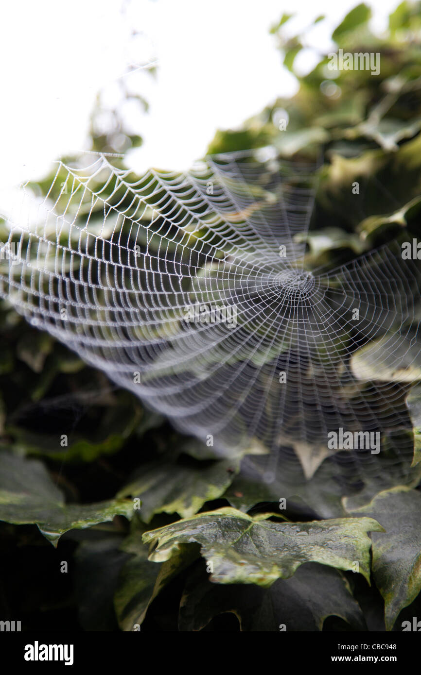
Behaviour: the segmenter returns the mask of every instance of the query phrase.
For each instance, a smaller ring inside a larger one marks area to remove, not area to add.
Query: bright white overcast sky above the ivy
[[[398,0],[368,2],[382,30]],[[41,178],[59,155],[88,147],[98,92],[118,97],[118,78],[145,95],[149,114],[126,111],[145,143],[134,168],[187,168],[218,128],[235,128],[277,96],[295,92],[270,26],[295,13],[294,26],[320,14],[311,43],[330,47],[332,28],[357,0],[14,0],[0,26],[1,192]],[[294,23],[293,23],[294,21]],[[133,37],[132,32],[143,32]],[[130,64],[157,59],[157,78]],[[301,57],[312,65],[312,53]],[[1,205],[0,205],[1,207]]]

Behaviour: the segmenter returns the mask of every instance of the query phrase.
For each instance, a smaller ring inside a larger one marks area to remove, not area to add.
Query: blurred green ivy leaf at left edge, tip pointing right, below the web
[[[0,453],[0,520],[36,524],[53,546],[68,530],[91,527],[117,515],[130,518],[132,514],[133,502],[128,499],[64,504],[61,490],[39,460]]]

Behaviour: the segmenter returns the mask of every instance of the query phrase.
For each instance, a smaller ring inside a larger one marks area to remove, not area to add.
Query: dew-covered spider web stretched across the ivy
[[[382,437],[379,456],[337,453],[354,480],[385,456],[410,466],[416,261],[391,244],[307,269],[317,167],[271,148],[183,174],[116,163],[60,162],[39,217],[9,220],[1,296],[218,452],[286,473],[299,456],[309,476],[342,428]]]

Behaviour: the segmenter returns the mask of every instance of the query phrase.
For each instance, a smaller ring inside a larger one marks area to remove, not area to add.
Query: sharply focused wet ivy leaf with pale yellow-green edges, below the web
[[[270,586],[292,576],[304,562],[320,562],[351,570],[355,562],[370,579],[370,538],[379,531],[371,518],[337,518],[312,522],[272,522],[273,514],[249,516],[221,508],[179,520],[147,532],[143,541],[156,547],[153,562],[170,560],[180,545],[197,542],[201,555],[212,563],[216,583],[255,583]]]

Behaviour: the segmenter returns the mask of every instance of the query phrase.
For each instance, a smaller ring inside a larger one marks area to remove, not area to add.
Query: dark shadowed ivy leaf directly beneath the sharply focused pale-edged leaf
[[[203,570],[189,572],[180,602],[180,630],[201,630],[214,616],[233,612],[243,631],[322,630],[328,616],[339,616],[357,630],[366,630],[362,611],[345,576],[310,562],[289,579],[269,589],[255,585],[212,584]]]

